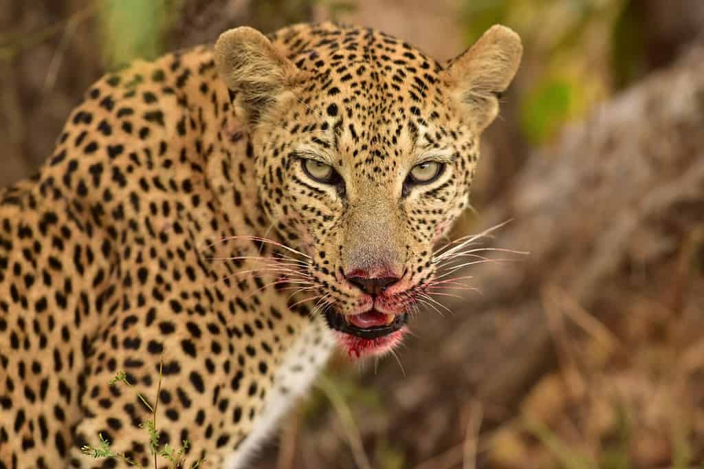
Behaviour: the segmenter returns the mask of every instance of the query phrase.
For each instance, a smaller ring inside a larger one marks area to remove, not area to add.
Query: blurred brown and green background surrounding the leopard
[[[0,0],[0,184],[106,71],[330,19],[441,60],[520,33],[454,236],[512,220],[484,245],[530,254],[470,268],[396,357],[335,358],[252,467],[704,468],[704,1]]]

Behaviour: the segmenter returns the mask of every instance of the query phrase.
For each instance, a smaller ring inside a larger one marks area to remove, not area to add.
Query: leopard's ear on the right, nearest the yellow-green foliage
[[[520,37],[494,25],[446,69],[451,94],[465,105],[478,132],[498,115],[498,98],[513,80],[522,54]]]

